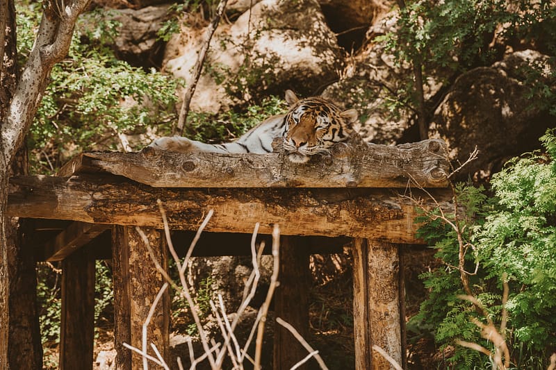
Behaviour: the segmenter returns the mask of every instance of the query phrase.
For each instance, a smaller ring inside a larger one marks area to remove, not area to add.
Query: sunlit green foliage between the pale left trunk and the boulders
[[[18,8],[21,56],[30,51],[38,8],[24,4]],[[117,134],[142,133],[175,117],[177,81],[131,67],[106,46],[119,25],[106,12],[79,18],[70,52],[52,69],[31,127],[32,170],[54,171],[78,151],[115,149]]]

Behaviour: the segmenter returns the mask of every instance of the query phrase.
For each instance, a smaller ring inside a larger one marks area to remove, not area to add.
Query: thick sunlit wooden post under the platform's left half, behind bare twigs
[[[156,260],[167,269],[167,249],[163,233],[143,228]],[[145,243],[135,228],[114,226],[112,230],[114,261],[114,325],[116,369],[142,369],[143,359],[125,348],[123,343],[142,348],[142,325],[164,281],[156,270]],[[147,353],[156,358],[150,346],[154,343],[165,360],[169,357],[170,295],[168,290],[156,305],[147,327]],[[153,366],[150,362],[151,367]],[[156,365],[154,365],[156,366]],[[156,368],[156,367],[152,367]]]

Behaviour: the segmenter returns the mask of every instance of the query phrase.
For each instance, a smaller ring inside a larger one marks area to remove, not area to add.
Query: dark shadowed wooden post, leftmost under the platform
[[[88,248],[62,262],[60,369],[92,369],[95,339],[95,260]]]

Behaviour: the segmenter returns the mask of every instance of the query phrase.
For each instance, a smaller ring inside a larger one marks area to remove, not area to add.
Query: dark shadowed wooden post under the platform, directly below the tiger
[[[275,314],[307,339],[309,335],[309,251],[303,237],[282,236],[279,286]],[[306,349],[278,323],[274,333],[274,369],[291,369],[307,355]],[[301,369],[306,369],[302,367]]]

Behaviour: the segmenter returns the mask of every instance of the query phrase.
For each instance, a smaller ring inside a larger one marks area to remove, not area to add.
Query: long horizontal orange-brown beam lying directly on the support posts
[[[256,222],[270,234],[350,236],[393,243],[420,243],[412,201],[393,191],[373,189],[160,189],[115,176],[49,176],[12,178],[8,215],[71,219],[97,224],[163,228],[156,199],[161,199],[170,228],[196,230],[208,210],[214,216],[207,231],[252,233]],[[423,206],[434,202],[423,193]],[[450,208],[449,190],[431,192]]]

